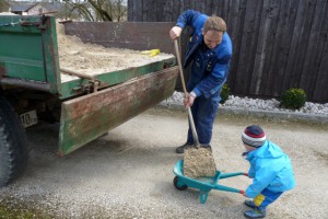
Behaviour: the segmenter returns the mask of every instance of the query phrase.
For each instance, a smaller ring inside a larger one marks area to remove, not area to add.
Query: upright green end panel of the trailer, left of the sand
[[[49,16],[0,16],[0,74],[42,82],[60,90],[56,20]],[[37,88],[37,87],[36,87]]]

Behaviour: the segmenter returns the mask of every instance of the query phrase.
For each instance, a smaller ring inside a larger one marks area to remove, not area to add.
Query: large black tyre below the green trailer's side
[[[0,187],[24,172],[27,158],[25,130],[14,110],[0,96]]]

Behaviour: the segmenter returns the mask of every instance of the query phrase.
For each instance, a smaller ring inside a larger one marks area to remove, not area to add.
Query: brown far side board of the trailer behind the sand
[[[72,22],[66,24],[66,33],[105,47],[160,48],[163,53],[173,54],[168,32],[174,25],[171,22]]]

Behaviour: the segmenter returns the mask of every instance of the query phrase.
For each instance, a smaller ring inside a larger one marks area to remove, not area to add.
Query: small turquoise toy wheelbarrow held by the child
[[[173,169],[173,173],[176,175],[173,181],[174,186],[178,191],[185,191],[188,187],[199,189],[200,191],[199,199],[200,199],[201,204],[206,204],[211,189],[225,191],[225,192],[239,193],[239,194],[245,193],[242,189],[220,185],[219,180],[233,177],[233,176],[237,176],[237,175],[248,176],[247,173],[244,173],[244,172],[222,173],[220,171],[216,171],[216,173],[213,177],[191,178],[191,177],[187,177],[184,175],[183,168],[184,168],[184,160],[179,160]]]

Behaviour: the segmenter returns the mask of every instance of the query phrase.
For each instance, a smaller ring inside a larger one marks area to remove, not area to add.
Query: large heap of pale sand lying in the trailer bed
[[[57,41],[60,67],[91,76],[140,67],[174,57],[172,54],[164,53],[150,57],[142,55],[140,50],[85,44],[77,36],[66,35],[63,24],[59,23]],[[74,79],[78,78],[61,72],[62,81]]]

